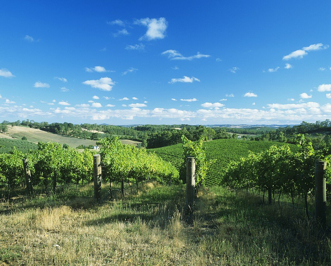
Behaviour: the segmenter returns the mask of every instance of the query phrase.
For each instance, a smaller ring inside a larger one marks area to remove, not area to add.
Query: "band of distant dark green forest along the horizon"
[[[230,127],[206,127],[203,125],[138,125],[124,127],[115,125],[98,124],[73,124],[73,123],[48,123],[36,122],[34,120],[23,120],[16,122],[3,121],[0,131],[6,132],[7,126],[27,126],[56,134],[69,135],[76,138],[99,140],[103,137],[118,136],[120,139],[129,139],[142,142],[141,146],[148,149],[159,148],[181,142],[184,135],[189,140],[195,141],[213,139],[241,139],[255,141],[277,141],[284,143],[295,143],[296,134],[305,134],[306,139],[311,141],[314,149],[331,149],[331,121],[316,121],[308,123],[303,121],[300,125],[279,127],[252,127],[252,128],[230,128]],[[232,133],[232,134],[231,134]],[[238,134],[244,134],[238,136]],[[245,136],[254,135],[254,136]]]

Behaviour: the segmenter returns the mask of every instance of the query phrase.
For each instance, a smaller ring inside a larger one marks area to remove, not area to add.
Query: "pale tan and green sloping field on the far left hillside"
[[[70,136],[58,135],[58,134],[42,131],[39,129],[23,127],[23,126],[13,126],[13,127],[8,126],[7,134],[2,134],[2,135],[6,135],[9,138],[12,137],[16,139],[22,139],[22,137],[25,136],[28,141],[33,143],[38,143],[40,141],[57,142],[60,144],[67,144],[73,148],[76,148],[79,145],[85,145],[85,146],[96,145],[95,140],[85,140]],[[132,141],[132,140],[121,140],[121,142],[123,144],[132,144],[132,145],[137,145],[140,143],[138,141]]]

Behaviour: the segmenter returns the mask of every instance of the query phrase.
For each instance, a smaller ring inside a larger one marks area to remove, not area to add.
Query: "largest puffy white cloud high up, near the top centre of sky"
[[[136,20],[134,24],[143,25],[147,27],[147,31],[144,36],[140,37],[139,40],[156,40],[163,39],[166,33],[166,28],[168,26],[168,22],[165,18],[159,19],[140,19]]]

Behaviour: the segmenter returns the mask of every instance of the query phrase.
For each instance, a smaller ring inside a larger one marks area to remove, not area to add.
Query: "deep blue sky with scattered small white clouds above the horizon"
[[[6,1],[0,119],[296,124],[331,116],[330,1]]]

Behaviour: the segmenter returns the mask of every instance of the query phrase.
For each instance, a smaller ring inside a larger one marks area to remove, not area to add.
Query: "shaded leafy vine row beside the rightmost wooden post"
[[[249,154],[232,161],[223,178],[223,184],[233,188],[258,188],[261,191],[272,190],[282,193],[312,193],[315,186],[315,160],[327,161],[326,178],[329,177],[330,155],[326,151],[314,151],[311,142],[304,135],[298,135],[298,150],[291,151],[288,145],[271,146],[268,150]]]

